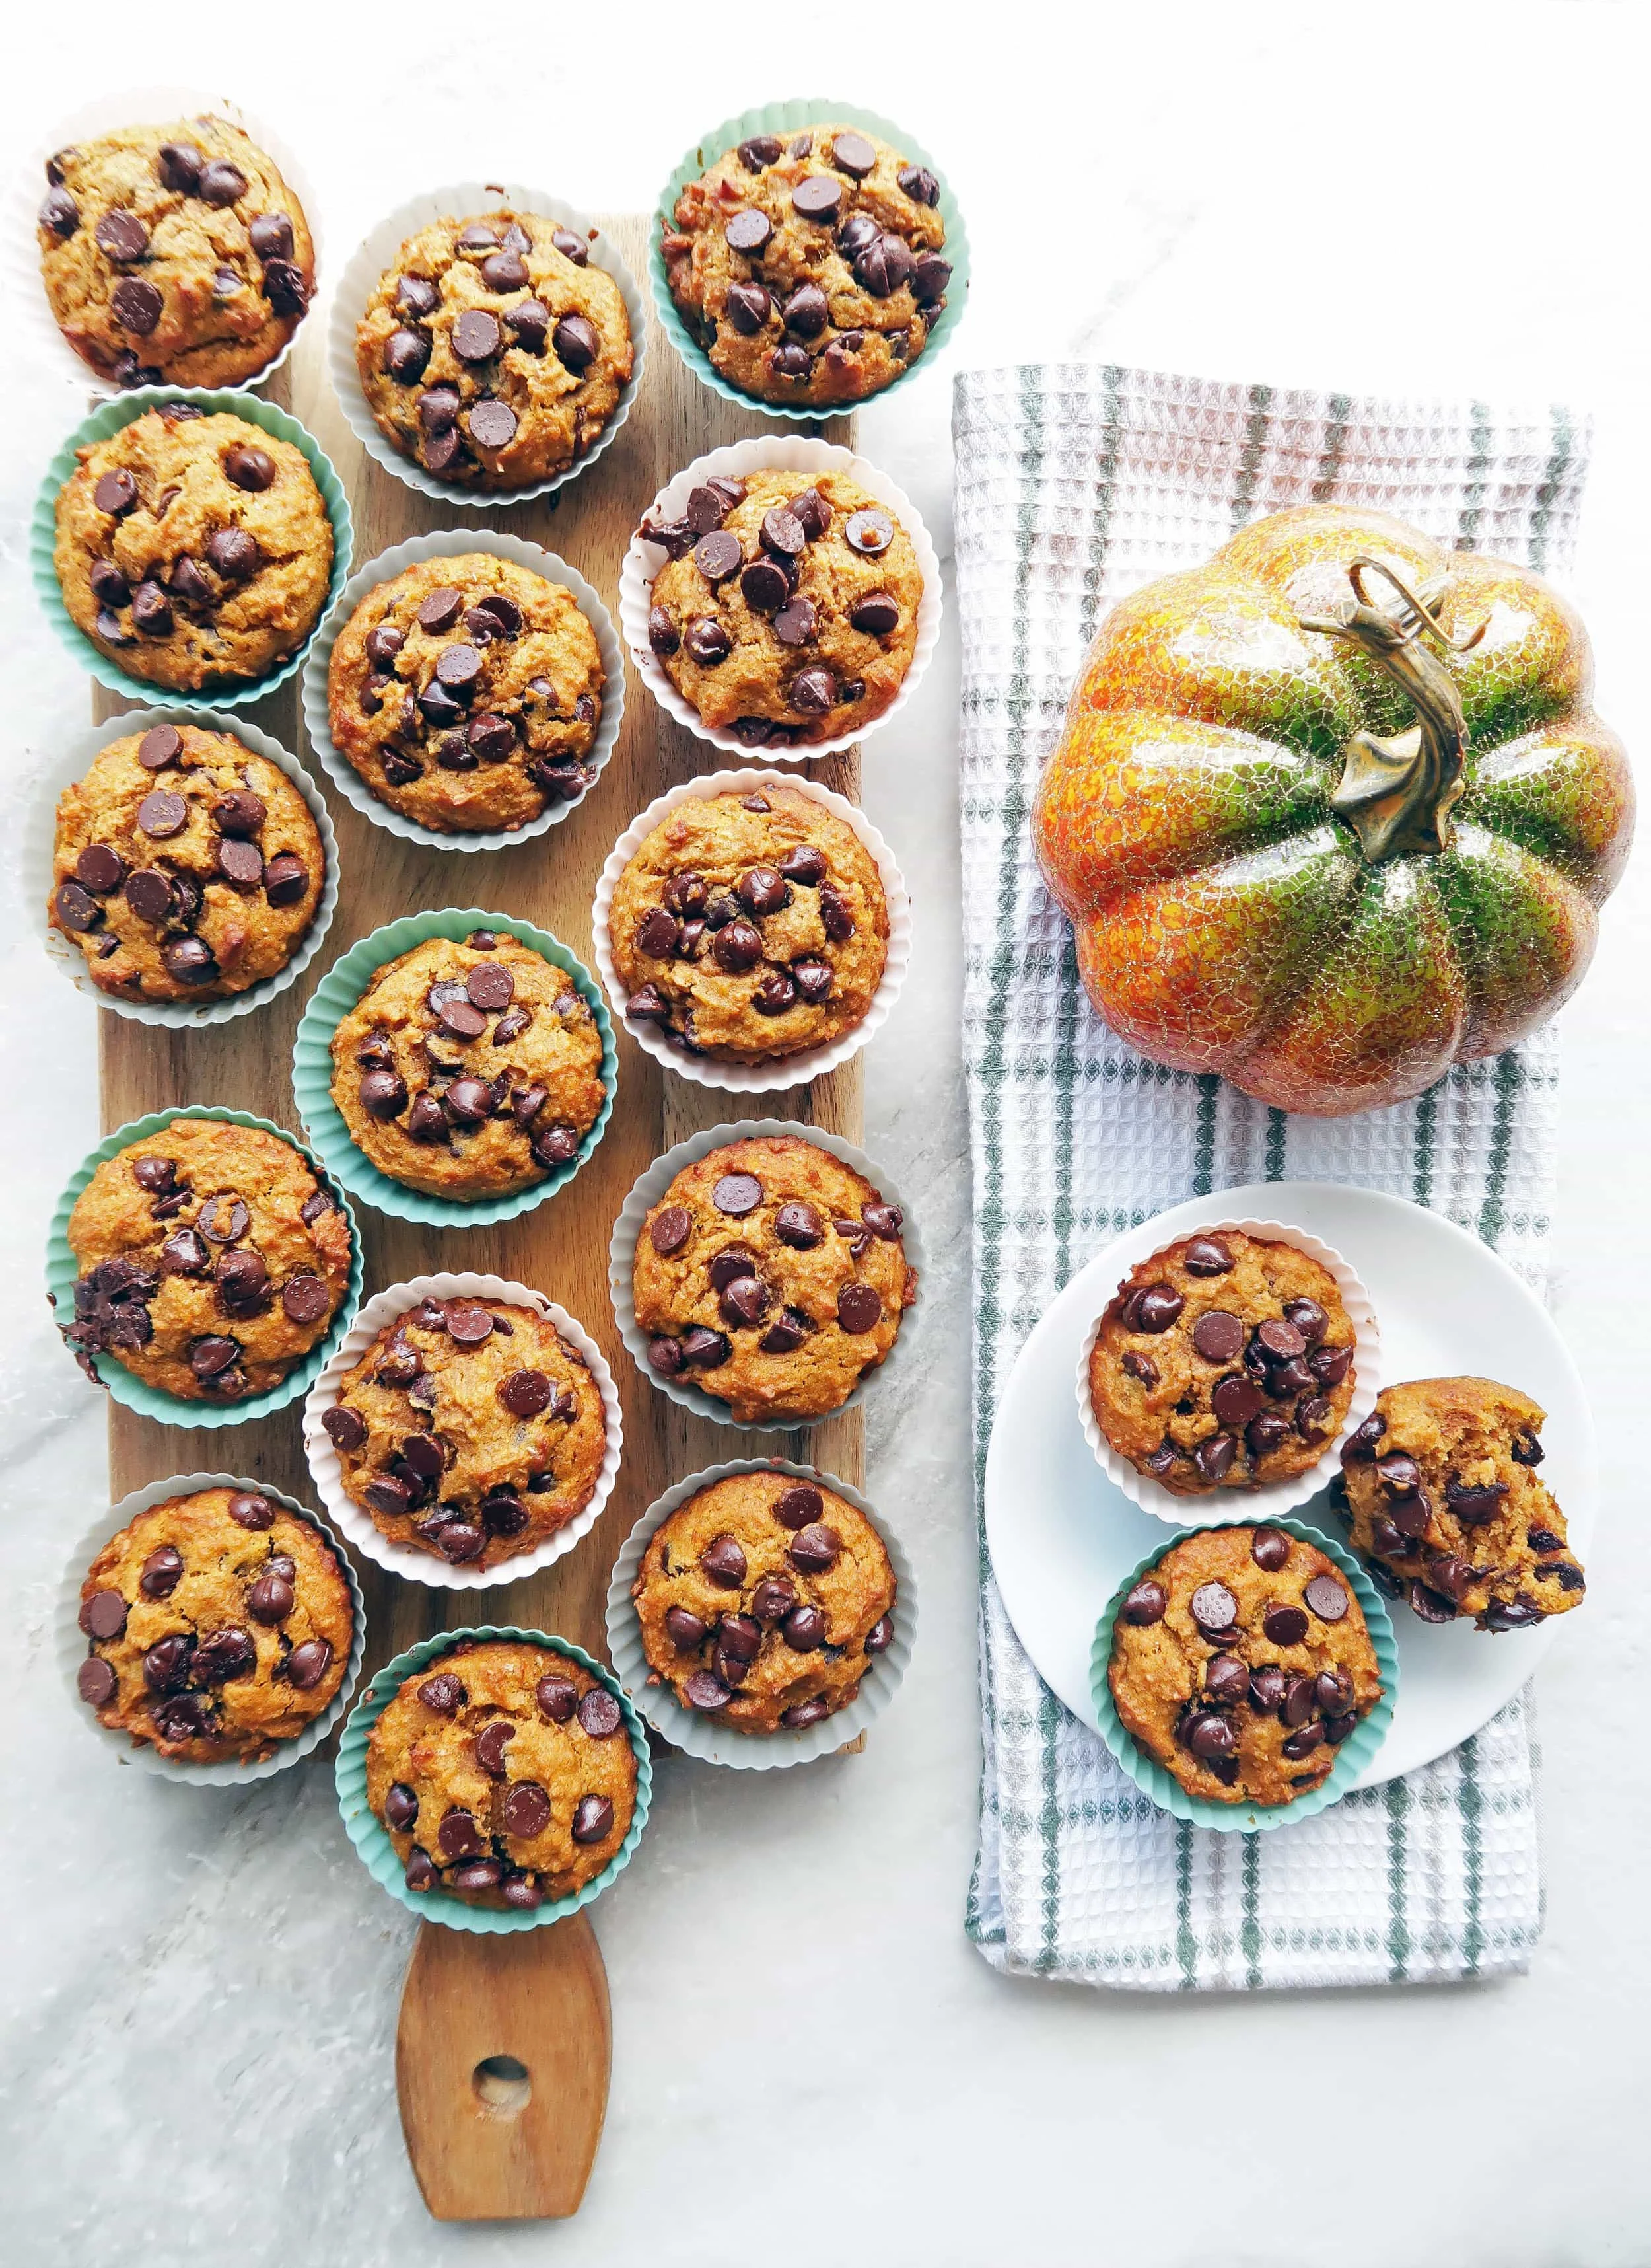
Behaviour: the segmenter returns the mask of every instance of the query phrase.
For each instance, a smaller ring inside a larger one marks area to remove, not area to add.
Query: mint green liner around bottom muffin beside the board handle
[[[451,1653],[460,1637],[472,1637],[476,1644],[506,1640],[510,1644],[549,1647],[551,1653],[560,1653],[565,1660],[578,1662],[581,1669],[590,1669],[594,1678],[601,1678],[624,1712],[630,1753],[637,1760],[637,1803],[630,1812],[630,1830],[601,1873],[592,1876],[592,1880],[585,1882],[583,1889],[576,1889],[569,1898],[551,1898],[544,1905],[533,1907],[494,1907],[465,1905],[463,1898],[449,1898],[442,1892],[408,1889],[401,1860],[395,1855],[395,1844],[379,1826],[379,1819],[367,1803],[367,1735],[399,1692],[401,1683],[415,1672],[429,1669],[429,1665],[440,1660],[442,1653]],[[361,1701],[356,1701],[349,1721],[345,1724],[342,1740],[338,1742],[333,1783],[338,1787],[338,1814],[345,1821],[345,1835],[349,1835],[361,1864],[381,1889],[388,1889],[390,1896],[399,1905],[406,1905],[408,1914],[417,1914],[420,1921],[438,1921],[444,1930],[469,1930],[476,1937],[501,1937],[508,1930],[542,1930],[553,1921],[567,1921],[569,1914],[576,1914],[581,1905],[590,1905],[592,1898],[599,1898],[603,1889],[608,1889],[608,1885],[626,1871],[630,1853],[642,1842],[642,1828],[649,1823],[653,1762],[649,1758],[649,1735],[642,1728],[642,1719],[637,1717],[630,1696],[619,1685],[619,1678],[615,1678],[610,1669],[603,1669],[599,1660],[592,1660],[583,1647],[576,1647],[572,1637],[551,1637],[547,1631],[517,1631],[483,1624],[474,1631],[440,1631],[435,1637],[424,1637],[417,1647],[408,1647],[406,1653],[397,1653],[392,1662],[386,1662],[383,1669],[370,1678],[367,1690]]]

